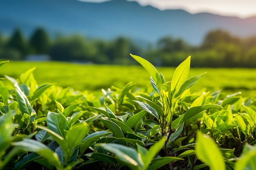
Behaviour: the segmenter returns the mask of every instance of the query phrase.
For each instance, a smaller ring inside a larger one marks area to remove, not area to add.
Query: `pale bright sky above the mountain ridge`
[[[80,0],[104,2],[109,0]],[[184,9],[189,13],[209,12],[225,16],[248,18],[256,16],[255,0],[128,0],[137,1],[142,6],[151,5],[160,10]]]

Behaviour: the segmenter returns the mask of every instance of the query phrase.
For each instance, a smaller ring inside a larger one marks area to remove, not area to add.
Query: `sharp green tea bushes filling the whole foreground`
[[[191,93],[205,73],[188,78],[190,57],[167,81],[150,62],[131,56],[148,71],[154,91],[130,82],[99,96],[38,85],[34,68],[19,79],[6,75],[0,170],[256,169],[254,99]]]

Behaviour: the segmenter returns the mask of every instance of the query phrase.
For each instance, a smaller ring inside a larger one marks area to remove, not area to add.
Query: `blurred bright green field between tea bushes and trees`
[[[101,88],[123,88],[128,82],[135,87],[150,86],[150,78],[142,66],[86,65],[65,62],[9,62],[0,67],[0,77],[18,78],[36,67],[34,77],[38,84],[57,83],[80,91],[101,91]],[[166,81],[170,81],[175,68],[161,67]],[[227,94],[242,92],[243,96],[256,96],[256,69],[249,68],[191,68],[189,77],[207,72],[192,86],[191,91],[222,91]]]

